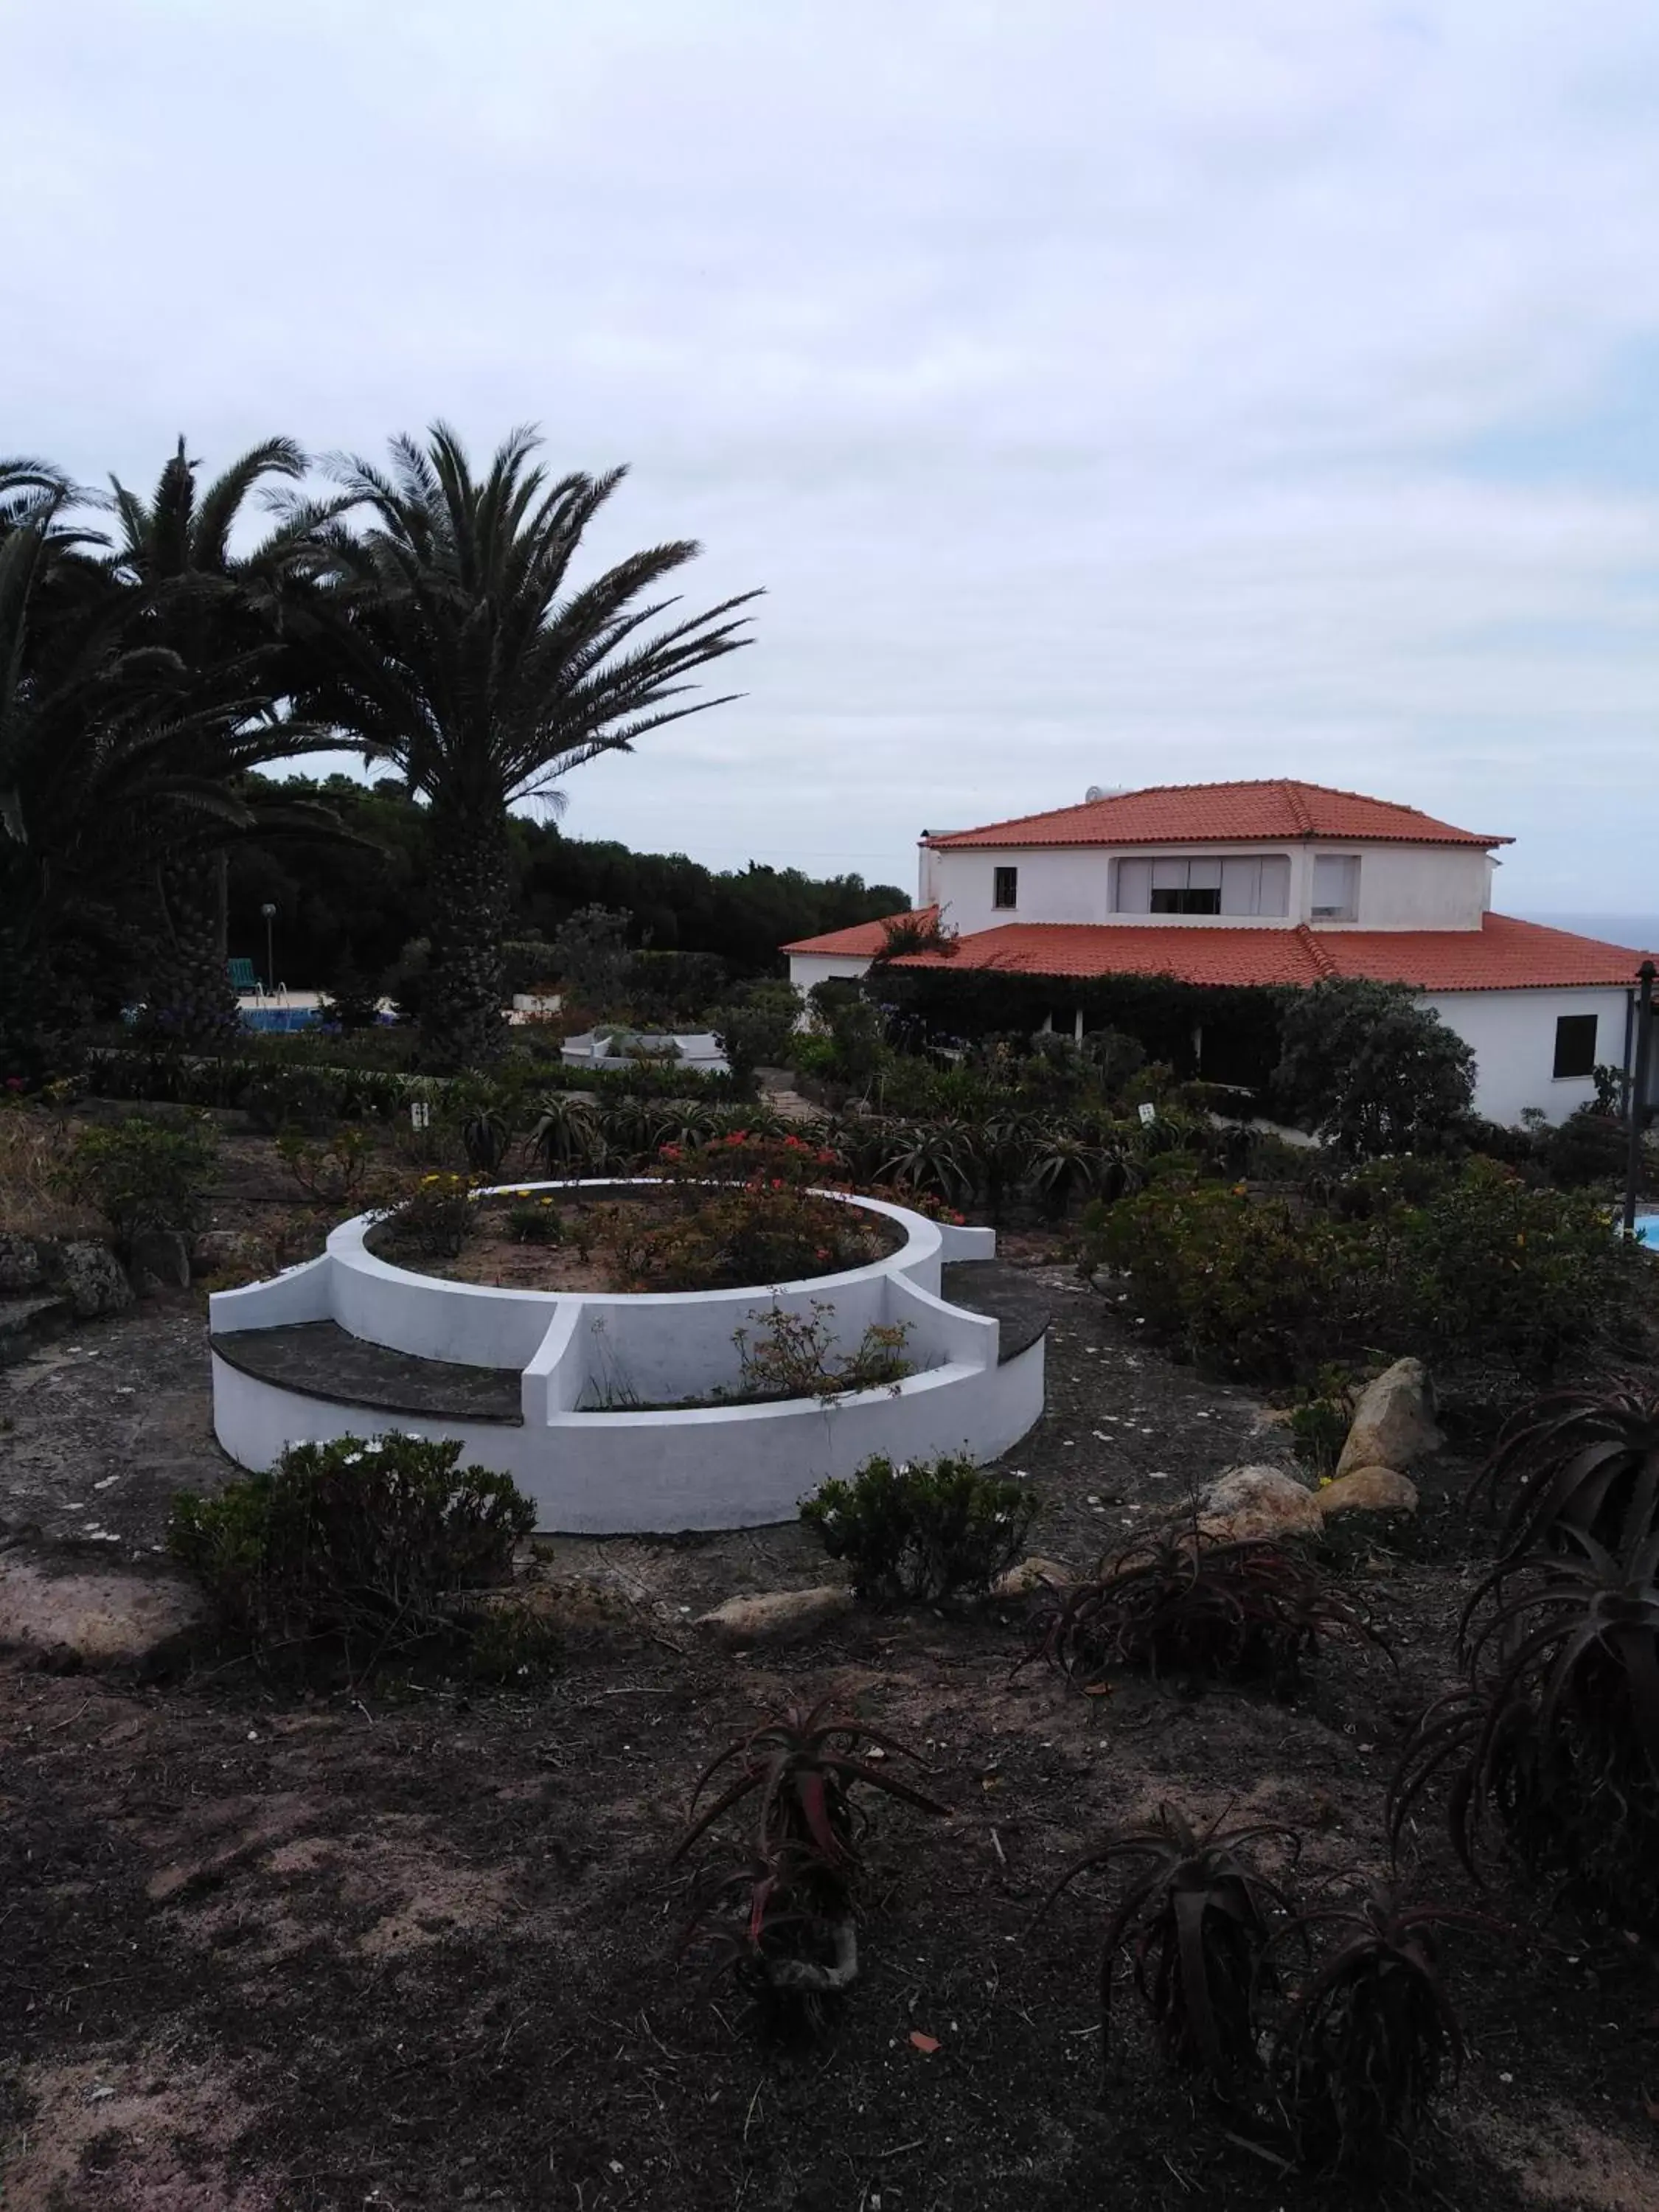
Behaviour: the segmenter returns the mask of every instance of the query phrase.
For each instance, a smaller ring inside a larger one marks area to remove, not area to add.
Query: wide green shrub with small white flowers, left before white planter
[[[254,1648],[347,1639],[365,1657],[456,1630],[467,1590],[507,1579],[535,1509],[458,1442],[290,1444],[215,1498],[181,1491],[168,1548]]]

